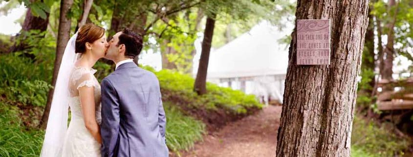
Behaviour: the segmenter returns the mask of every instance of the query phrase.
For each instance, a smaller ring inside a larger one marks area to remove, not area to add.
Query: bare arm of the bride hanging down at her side
[[[79,88],[80,103],[82,106],[83,119],[87,130],[92,136],[102,143],[102,137],[100,135],[100,128],[95,117],[95,97],[93,87],[81,87]]]

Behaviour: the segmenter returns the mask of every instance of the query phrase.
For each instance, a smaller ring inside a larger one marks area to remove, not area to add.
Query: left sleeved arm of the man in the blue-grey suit
[[[102,80],[102,157],[112,157],[119,135],[119,99],[108,79]]]

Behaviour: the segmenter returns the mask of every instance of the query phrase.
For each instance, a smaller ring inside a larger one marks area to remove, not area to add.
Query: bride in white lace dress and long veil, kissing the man
[[[101,157],[101,91],[92,67],[105,56],[107,46],[105,29],[91,23],[82,26],[67,43],[41,157]],[[67,127],[68,107],[71,119]]]

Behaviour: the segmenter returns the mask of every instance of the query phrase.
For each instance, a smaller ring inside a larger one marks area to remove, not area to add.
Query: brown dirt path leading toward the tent
[[[268,106],[257,114],[206,135],[182,157],[274,157],[281,106]]]

